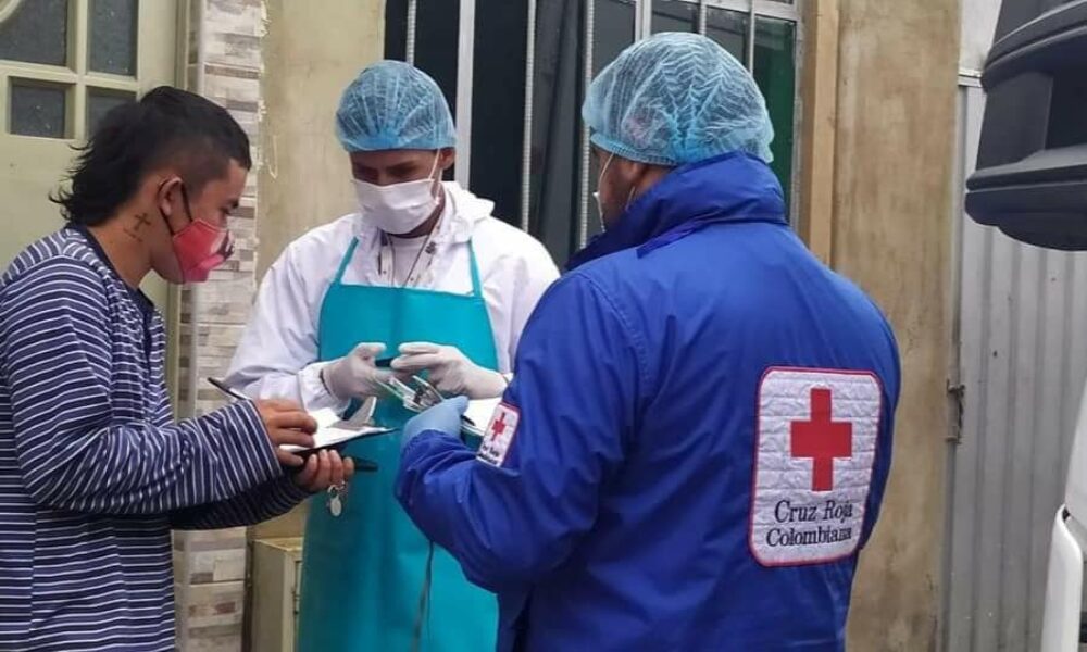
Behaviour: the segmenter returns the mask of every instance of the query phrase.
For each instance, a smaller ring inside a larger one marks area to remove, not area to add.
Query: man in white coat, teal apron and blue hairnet
[[[337,134],[355,213],[287,247],[261,284],[227,376],[257,398],[347,411],[380,399],[375,421],[410,414],[385,399],[391,374],[426,373],[448,396],[501,396],[521,331],[558,277],[547,250],[441,183],[455,159],[449,106],[400,62],[347,88]],[[391,359],[391,360],[390,360]],[[376,463],[310,505],[299,650],[493,649],[497,603],[396,503],[399,435],[351,442]]]

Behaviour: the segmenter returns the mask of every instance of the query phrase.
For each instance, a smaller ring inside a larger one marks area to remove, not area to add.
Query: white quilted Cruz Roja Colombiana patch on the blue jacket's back
[[[870,373],[772,368],[759,386],[751,554],[764,566],[857,552],[883,391]]]

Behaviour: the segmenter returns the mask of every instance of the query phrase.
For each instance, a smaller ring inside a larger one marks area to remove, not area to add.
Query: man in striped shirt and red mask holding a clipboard
[[[229,255],[250,166],[226,111],[152,90],[104,117],[55,198],[67,226],[0,278],[0,650],[173,650],[171,528],[255,523],[350,477],[279,449],[312,446],[289,402],[172,418],[139,285]]]

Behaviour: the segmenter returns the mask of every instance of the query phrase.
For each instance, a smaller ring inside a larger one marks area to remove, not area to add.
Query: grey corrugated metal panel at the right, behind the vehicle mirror
[[[960,86],[960,181],[984,93]],[[962,187],[962,183],[959,184]],[[944,649],[1036,650],[1049,531],[1087,376],[1087,254],[1020,244],[957,206],[961,440],[949,443]]]

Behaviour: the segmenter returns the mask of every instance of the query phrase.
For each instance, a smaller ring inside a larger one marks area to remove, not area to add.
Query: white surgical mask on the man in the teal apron
[[[438,208],[438,198],[434,193],[434,173],[438,170],[439,155],[440,152],[435,153],[434,166],[425,179],[391,186],[355,179],[354,193],[359,199],[362,218],[393,236],[418,228]]]

